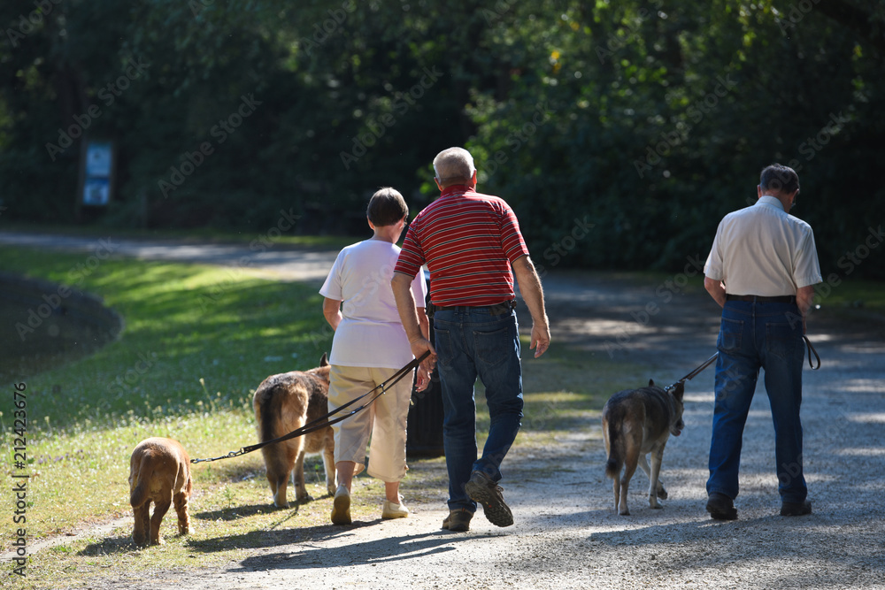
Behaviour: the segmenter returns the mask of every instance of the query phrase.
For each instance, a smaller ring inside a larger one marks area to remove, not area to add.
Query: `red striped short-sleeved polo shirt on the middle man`
[[[409,225],[396,272],[430,271],[435,305],[494,305],[512,300],[512,262],[526,242],[510,205],[466,186],[443,190]]]

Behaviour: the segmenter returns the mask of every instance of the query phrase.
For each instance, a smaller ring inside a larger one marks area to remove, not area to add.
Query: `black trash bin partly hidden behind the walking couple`
[[[430,301],[430,281],[427,280],[427,302]],[[434,341],[434,320],[430,320],[430,341]],[[432,458],[445,455],[443,450],[443,392],[436,370],[431,375],[430,386],[415,391],[412,381],[412,405],[409,406],[409,422],[405,437],[407,457]]]

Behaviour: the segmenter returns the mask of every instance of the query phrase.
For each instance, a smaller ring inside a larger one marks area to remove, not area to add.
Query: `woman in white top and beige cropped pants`
[[[400,250],[396,241],[408,216],[403,195],[393,188],[377,191],[366,210],[373,236],[342,249],[319,290],[325,297],[323,315],[335,330],[329,358],[330,410],[377,387],[414,358],[390,287]],[[412,281],[412,295],[417,307],[423,308],[427,286],[420,272]],[[427,338],[429,325],[423,309],[418,316]],[[419,372],[419,388],[425,387],[426,380],[427,375]],[[338,475],[332,510],[335,525],[350,524],[350,484],[366,462],[370,434],[368,473],[385,484],[381,517],[409,515],[399,495],[399,482],[407,469],[405,428],[411,398],[412,379],[406,377],[366,410],[333,426]]]

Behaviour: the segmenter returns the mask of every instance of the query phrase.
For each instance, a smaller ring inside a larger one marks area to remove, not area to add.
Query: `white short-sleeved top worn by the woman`
[[[319,289],[320,295],[344,302],[330,364],[399,369],[414,358],[390,287],[399,250],[389,241],[366,240],[342,249],[335,258]],[[423,272],[412,280],[412,296],[423,308]]]

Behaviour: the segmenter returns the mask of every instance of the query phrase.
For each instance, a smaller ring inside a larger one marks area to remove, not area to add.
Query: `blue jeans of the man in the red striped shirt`
[[[522,365],[519,326],[512,311],[493,315],[488,307],[437,310],[434,317],[436,368],[443,391],[443,448],[449,471],[449,510],[476,511],[464,491],[472,471],[501,479],[501,462],[522,419]],[[477,376],[486,387],[489,438],[477,460]]]

